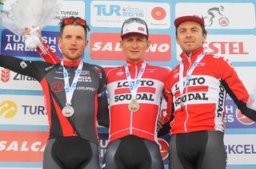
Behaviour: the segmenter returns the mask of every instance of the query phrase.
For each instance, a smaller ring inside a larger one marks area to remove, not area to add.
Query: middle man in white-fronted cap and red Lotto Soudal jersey
[[[110,143],[102,168],[162,169],[157,123],[164,82],[170,70],[144,61],[150,41],[142,19],[127,19],[121,37],[126,65],[105,69],[110,95]],[[50,49],[41,55],[52,63],[60,61]]]

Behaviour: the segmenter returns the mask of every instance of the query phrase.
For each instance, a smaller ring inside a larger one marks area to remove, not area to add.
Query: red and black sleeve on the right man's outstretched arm
[[[247,92],[242,81],[239,79],[238,74],[235,72],[233,65],[230,61],[223,57],[218,58],[219,73],[222,77],[222,85],[226,89],[226,92],[237,104],[238,109],[241,110],[242,114],[256,121],[256,111],[247,107],[247,100],[250,99],[250,95]]]

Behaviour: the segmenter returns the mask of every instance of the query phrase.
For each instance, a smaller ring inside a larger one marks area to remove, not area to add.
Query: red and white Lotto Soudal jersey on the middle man
[[[40,55],[50,63],[61,61],[46,44],[46,54]],[[142,62],[127,61],[131,79],[138,76]],[[131,93],[126,79],[125,66],[105,68],[106,88],[110,96],[110,142],[124,136],[134,135],[147,140],[157,141],[156,128],[164,83],[170,69],[146,64],[138,87],[138,112],[130,112]],[[165,120],[167,122],[167,120]]]

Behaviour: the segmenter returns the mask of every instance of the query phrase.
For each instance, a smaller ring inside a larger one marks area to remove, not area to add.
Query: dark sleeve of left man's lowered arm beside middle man
[[[106,97],[106,75],[102,67],[97,66],[96,72],[98,73],[98,79],[100,81],[100,85],[98,88],[98,113],[97,120],[98,124],[109,128],[110,126],[110,117],[109,117],[109,109],[108,102]]]

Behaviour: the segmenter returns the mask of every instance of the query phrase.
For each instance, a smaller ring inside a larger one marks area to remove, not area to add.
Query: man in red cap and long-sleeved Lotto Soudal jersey
[[[241,112],[256,120],[255,102],[230,61],[203,52],[204,20],[197,15],[176,18],[176,41],[182,62],[165,84],[170,122],[171,169],[224,169],[223,143],[226,94]],[[250,107],[250,108],[248,108]],[[166,118],[168,118],[167,116]]]

